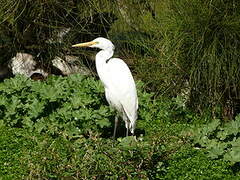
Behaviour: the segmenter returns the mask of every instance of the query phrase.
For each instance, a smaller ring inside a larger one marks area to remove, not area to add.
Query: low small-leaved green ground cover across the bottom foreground
[[[180,125],[178,125],[179,127]],[[184,126],[181,126],[181,129]],[[168,126],[174,129],[176,126]],[[1,166],[3,179],[231,179],[229,163],[210,160],[204,151],[193,149],[175,133],[138,142],[99,137],[78,138],[27,132],[1,127]],[[168,130],[169,131],[169,130]],[[173,136],[175,135],[175,136]],[[132,142],[129,144],[129,142]],[[239,178],[239,177],[238,177]],[[236,176],[237,179],[237,176]]]

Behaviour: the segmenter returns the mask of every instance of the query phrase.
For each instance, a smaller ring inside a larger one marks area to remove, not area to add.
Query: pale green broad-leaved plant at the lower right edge
[[[223,159],[233,164],[240,162],[240,116],[221,126],[216,119],[193,131],[196,145],[206,148],[212,159]]]

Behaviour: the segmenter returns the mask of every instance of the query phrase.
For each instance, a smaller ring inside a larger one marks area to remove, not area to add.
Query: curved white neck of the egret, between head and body
[[[108,79],[108,78],[104,78],[105,76],[108,76],[107,62],[113,56],[113,53],[114,53],[113,49],[108,48],[108,49],[101,50],[96,54],[97,73],[104,85],[106,85],[105,80]]]

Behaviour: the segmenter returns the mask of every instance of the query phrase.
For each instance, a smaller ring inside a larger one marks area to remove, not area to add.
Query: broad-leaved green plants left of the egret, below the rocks
[[[23,76],[0,84],[0,119],[12,127],[68,136],[109,127],[113,116],[100,81],[80,75],[32,81]]]

